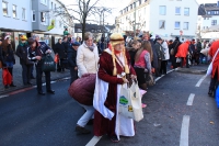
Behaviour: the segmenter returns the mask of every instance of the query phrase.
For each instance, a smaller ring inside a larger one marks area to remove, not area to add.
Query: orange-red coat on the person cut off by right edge
[[[212,45],[210,46],[209,56],[211,58],[215,56],[217,49],[219,49],[219,41],[214,42]],[[218,81],[219,81],[219,54],[216,56],[212,63],[211,78],[215,77],[216,72],[218,72]]]

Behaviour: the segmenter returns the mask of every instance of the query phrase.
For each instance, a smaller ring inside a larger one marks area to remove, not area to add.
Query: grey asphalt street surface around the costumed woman
[[[117,144],[104,135],[96,146],[218,146],[219,110],[207,96],[209,77],[196,87],[203,76],[172,71],[162,77],[142,98],[148,106],[145,119],[135,123],[136,135]],[[38,96],[30,88],[2,97],[0,146],[87,145],[93,134],[76,134],[83,109],[69,97],[68,87],[69,80],[59,80],[53,83],[56,94]],[[194,98],[191,105],[188,97]],[[87,127],[92,131],[92,125]]]

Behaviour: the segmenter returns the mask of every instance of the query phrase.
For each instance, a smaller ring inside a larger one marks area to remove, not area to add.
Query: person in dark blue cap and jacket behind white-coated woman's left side
[[[76,79],[78,79],[78,66],[76,63],[76,58],[77,58],[77,50],[80,45],[81,44],[79,42],[73,42],[72,47],[69,47],[68,49],[68,64],[69,64],[70,75],[71,75],[70,85]]]

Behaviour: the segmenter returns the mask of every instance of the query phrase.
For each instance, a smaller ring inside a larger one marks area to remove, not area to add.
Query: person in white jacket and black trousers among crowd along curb
[[[166,41],[163,41],[161,46],[163,48],[164,58],[161,61],[160,74],[166,75],[166,65],[168,65],[168,60],[170,59],[169,47],[168,47]]]

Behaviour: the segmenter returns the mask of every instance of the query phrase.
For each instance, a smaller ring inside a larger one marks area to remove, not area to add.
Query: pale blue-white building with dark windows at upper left
[[[10,35],[14,49],[22,34],[38,34],[54,46],[65,27],[73,32],[73,21],[59,0],[1,0],[0,10],[0,36]]]

